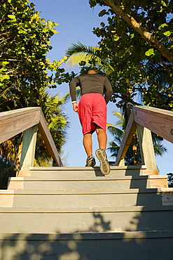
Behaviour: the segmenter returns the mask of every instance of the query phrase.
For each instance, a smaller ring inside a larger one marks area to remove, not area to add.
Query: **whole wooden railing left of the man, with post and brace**
[[[57,166],[62,166],[41,108],[21,108],[0,113],[0,143],[24,131],[20,170],[29,170],[29,167],[34,166],[37,129],[46,143],[50,156]]]

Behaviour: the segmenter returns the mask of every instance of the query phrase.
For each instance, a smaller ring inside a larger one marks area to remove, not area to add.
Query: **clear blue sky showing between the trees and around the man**
[[[99,38],[92,33],[93,27],[99,27],[100,22],[106,21],[106,17],[99,18],[98,13],[102,10],[99,6],[90,8],[88,0],[33,0],[36,5],[36,11],[41,11],[41,18],[58,23],[57,31],[51,38],[53,49],[48,53],[51,61],[60,60],[65,50],[72,44],[81,41],[87,46],[95,46]],[[76,73],[78,68],[72,68]],[[51,90],[51,93],[60,93],[65,95],[69,92],[69,85],[57,85],[57,89]],[[116,117],[112,115],[113,110],[118,110],[115,104],[108,104],[107,122],[116,123]],[[78,115],[72,110],[71,103],[64,105],[64,113],[69,117],[69,130],[67,143],[64,145],[64,155],[68,155],[67,163],[69,167],[82,167],[85,165],[86,155],[82,144],[83,135],[81,125],[78,122]],[[93,134],[93,154],[97,150],[97,136]],[[108,133],[108,145],[113,141],[112,136]],[[107,146],[108,146],[107,145]],[[156,157],[156,163],[160,174],[167,174],[173,171],[172,167],[172,143],[165,142],[169,150],[164,157]],[[107,152],[109,160],[112,160]],[[99,162],[97,161],[97,164]]]

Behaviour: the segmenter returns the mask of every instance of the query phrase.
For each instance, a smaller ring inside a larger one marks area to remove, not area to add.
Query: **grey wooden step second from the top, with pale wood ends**
[[[9,190],[167,188],[167,175],[92,177],[11,177]]]

